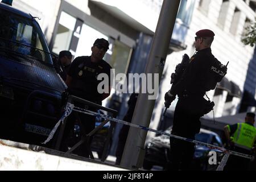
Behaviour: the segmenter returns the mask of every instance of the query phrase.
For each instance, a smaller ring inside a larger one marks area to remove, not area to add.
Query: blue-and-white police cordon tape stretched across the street
[[[101,118],[104,118],[104,119],[108,119],[109,121],[113,121],[113,122],[116,122],[116,123],[122,123],[123,125],[128,125],[128,126],[131,126],[131,127],[137,127],[138,129],[142,129],[142,130],[146,130],[146,131],[151,131],[151,132],[154,132],[154,133],[157,133],[157,134],[161,134],[161,135],[166,135],[166,136],[168,136],[168,137],[172,137],[172,138],[184,140],[184,141],[191,142],[191,143],[195,143],[195,144],[198,144],[198,145],[201,145],[201,146],[206,146],[206,147],[209,147],[210,149],[217,149],[217,150],[220,150],[220,151],[226,153],[226,155],[224,156],[225,158],[222,158],[222,160],[221,160],[221,164],[219,165],[220,168],[222,168],[222,167],[225,166],[225,163],[226,163],[226,161],[228,160],[229,155],[236,155],[236,156],[240,156],[240,157],[242,157],[242,158],[254,159],[254,157],[251,156],[251,155],[242,154],[242,153],[240,153],[240,152],[235,152],[235,151],[230,151],[230,150],[227,150],[226,148],[214,146],[214,145],[212,145],[212,144],[208,144],[208,143],[204,143],[204,142],[199,142],[199,141],[197,141],[197,140],[192,140],[192,139],[189,139],[189,138],[179,137],[179,136],[177,136],[177,135],[168,134],[168,133],[165,133],[165,132],[162,132],[162,131],[158,131],[158,130],[154,130],[154,129],[150,129],[150,128],[148,128],[148,127],[144,127],[144,126],[141,126],[141,125],[135,125],[135,124],[133,124],[133,123],[129,123],[129,122],[126,122],[126,121],[122,121],[121,119],[116,119],[116,118],[110,117],[109,115],[96,113],[96,112],[94,112],[94,111],[82,109],[82,108],[80,108],[80,107],[75,107],[73,104],[71,104],[71,103],[69,103],[69,102],[67,103],[67,105],[66,105],[66,107],[65,107],[65,111],[64,111],[63,116],[61,117],[61,119],[59,120],[59,122],[57,122],[57,124],[55,125],[55,127],[53,128],[53,130],[51,131],[51,133],[49,134],[49,137],[47,138],[47,140],[46,140],[45,142],[43,142],[43,144],[48,143],[49,140],[51,140],[51,139],[53,138],[53,135],[55,134],[55,132],[56,132],[56,130],[57,130],[57,127],[59,127],[60,122],[63,122],[64,119],[65,119],[66,117],[68,117],[68,115],[70,115],[70,114],[72,113],[72,111],[77,111],[77,112],[79,112],[79,113],[84,113],[84,114],[88,114],[88,115],[93,115],[93,116],[95,116],[95,117],[101,117]]]

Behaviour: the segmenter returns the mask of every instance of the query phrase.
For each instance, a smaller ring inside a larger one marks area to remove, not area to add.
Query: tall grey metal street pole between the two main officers
[[[159,74],[159,83],[166,62],[168,47],[171,42],[172,31],[179,9],[180,0],[164,0],[158,19],[150,56],[145,73]],[[152,84],[154,85],[154,84]],[[159,85],[158,85],[159,86]],[[158,92],[158,90],[157,90]],[[148,100],[150,94],[139,94],[131,123],[148,127],[155,100]],[[144,143],[147,131],[130,127],[125,148],[122,155],[121,166],[127,168],[140,168],[144,158]]]

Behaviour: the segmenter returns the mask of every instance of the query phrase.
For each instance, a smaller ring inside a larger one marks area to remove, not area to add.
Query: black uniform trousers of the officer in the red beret
[[[174,123],[171,134],[195,139],[200,132],[200,108],[203,97],[179,98],[174,112]],[[170,138],[170,162],[167,170],[189,170],[195,152],[195,144]]]

